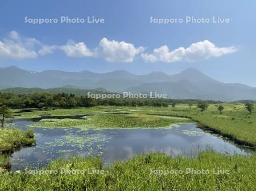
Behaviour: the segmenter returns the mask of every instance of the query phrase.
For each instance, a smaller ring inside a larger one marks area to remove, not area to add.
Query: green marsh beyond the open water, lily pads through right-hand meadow
[[[221,113],[219,108],[223,107]],[[119,114],[118,114],[119,113]],[[55,109],[51,111],[34,111],[21,113],[20,117],[33,118],[42,114],[67,116],[72,114],[89,114],[87,120],[62,119],[43,120],[35,126],[81,128],[152,128],[167,127],[177,122],[188,122],[186,118],[199,123],[234,141],[256,146],[256,113],[247,111],[242,103],[209,104],[201,112],[196,104],[176,104],[175,107],[93,107],[77,109]],[[162,116],[162,117],[161,117]],[[170,116],[170,118],[163,118]],[[171,118],[171,117],[184,117]],[[127,126],[129,125],[129,126]]]

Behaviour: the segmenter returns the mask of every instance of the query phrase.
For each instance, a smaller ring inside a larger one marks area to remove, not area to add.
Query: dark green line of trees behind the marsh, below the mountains
[[[0,106],[9,108],[76,108],[105,106],[150,106],[167,107],[175,104],[197,104],[199,100],[172,100],[172,99],[92,99],[88,96],[75,94],[15,94],[0,92]],[[208,104],[218,104],[221,101],[206,101]]]

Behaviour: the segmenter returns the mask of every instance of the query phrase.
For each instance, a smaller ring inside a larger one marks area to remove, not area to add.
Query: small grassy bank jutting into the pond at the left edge
[[[19,129],[0,128],[0,154],[13,152],[16,148],[22,146],[31,146],[35,144],[34,131],[24,132]]]

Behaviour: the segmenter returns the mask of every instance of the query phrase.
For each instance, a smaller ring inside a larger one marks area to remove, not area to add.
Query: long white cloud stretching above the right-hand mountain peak
[[[152,54],[142,54],[146,62],[177,62],[177,61],[200,61],[207,60],[210,57],[220,57],[225,54],[236,52],[234,46],[219,48],[208,40],[191,44],[188,48],[179,47],[175,50],[169,50],[168,46],[155,48]]]

